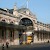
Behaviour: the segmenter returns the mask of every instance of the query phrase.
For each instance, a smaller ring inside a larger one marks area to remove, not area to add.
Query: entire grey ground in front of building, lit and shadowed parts
[[[0,50],[2,50],[2,47]],[[50,50],[50,44],[9,46],[8,49],[4,47],[4,50]]]

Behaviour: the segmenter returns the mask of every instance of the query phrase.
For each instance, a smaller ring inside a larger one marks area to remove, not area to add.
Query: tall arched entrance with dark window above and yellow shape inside
[[[19,25],[24,25],[26,27],[26,30],[21,30],[23,31],[21,34],[21,38],[23,39],[23,43],[31,43],[33,42],[33,35],[32,35],[32,30],[33,30],[33,22],[28,19],[28,18],[22,18],[19,22]],[[19,34],[19,35],[20,35]]]

